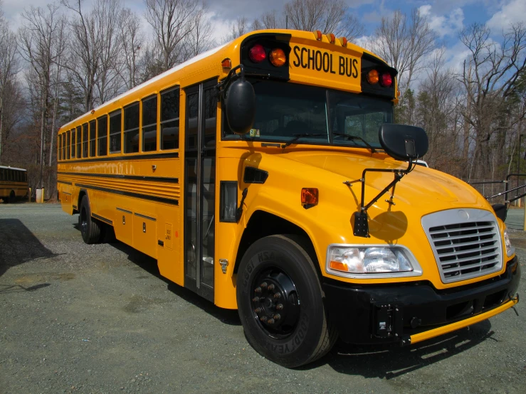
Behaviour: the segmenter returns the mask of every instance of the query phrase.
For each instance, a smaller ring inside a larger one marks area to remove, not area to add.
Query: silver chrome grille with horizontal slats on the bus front
[[[495,215],[454,209],[422,218],[442,282],[458,282],[502,268],[502,244]]]

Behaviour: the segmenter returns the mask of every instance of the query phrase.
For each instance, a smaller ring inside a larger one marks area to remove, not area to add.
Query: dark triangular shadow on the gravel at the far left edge
[[[19,219],[0,219],[0,277],[16,265],[55,256]]]

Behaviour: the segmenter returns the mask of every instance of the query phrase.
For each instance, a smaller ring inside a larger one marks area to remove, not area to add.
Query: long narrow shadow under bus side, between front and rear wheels
[[[195,307],[198,307],[207,314],[214,316],[224,324],[231,326],[241,326],[241,321],[239,320],[238,312],[236,310],[216,307],[214,303],[209,302],[207,299],[204,299],[198,294],[191,292],[191,290],[179,286],[179,284],[175,284],[171,280],[163,277],[159,272],[159,267],[157,267],[157,260],[154,258],[144,255],[144,253],[135,250],[130,245],[126,245],[125,243],[121,243],[117,240],[112,241],[111,245],[121,252],[126,253],[128,260],[137,265],[137,267],[142,268],[142,270],[148,272],[149,275],[153,275],[154,277],[161,279],[167,284],[167,289],[177,297],[184,299],[184,301],[189,302]]]

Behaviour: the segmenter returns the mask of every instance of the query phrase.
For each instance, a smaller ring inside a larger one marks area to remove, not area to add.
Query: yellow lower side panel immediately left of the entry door
[[[163,277],[184,286],[184,264],[181,259],[178,206],[163,207],[157,218],[157,265]]]

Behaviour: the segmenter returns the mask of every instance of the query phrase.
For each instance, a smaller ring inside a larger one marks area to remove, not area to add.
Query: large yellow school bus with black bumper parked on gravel
[[[414,344],[518,302],[505,224],[417,166],[396,70],[320,31],[255,31],[61,127],[58,191],[164,277],[238,309],[282,366],[335,341]]]

